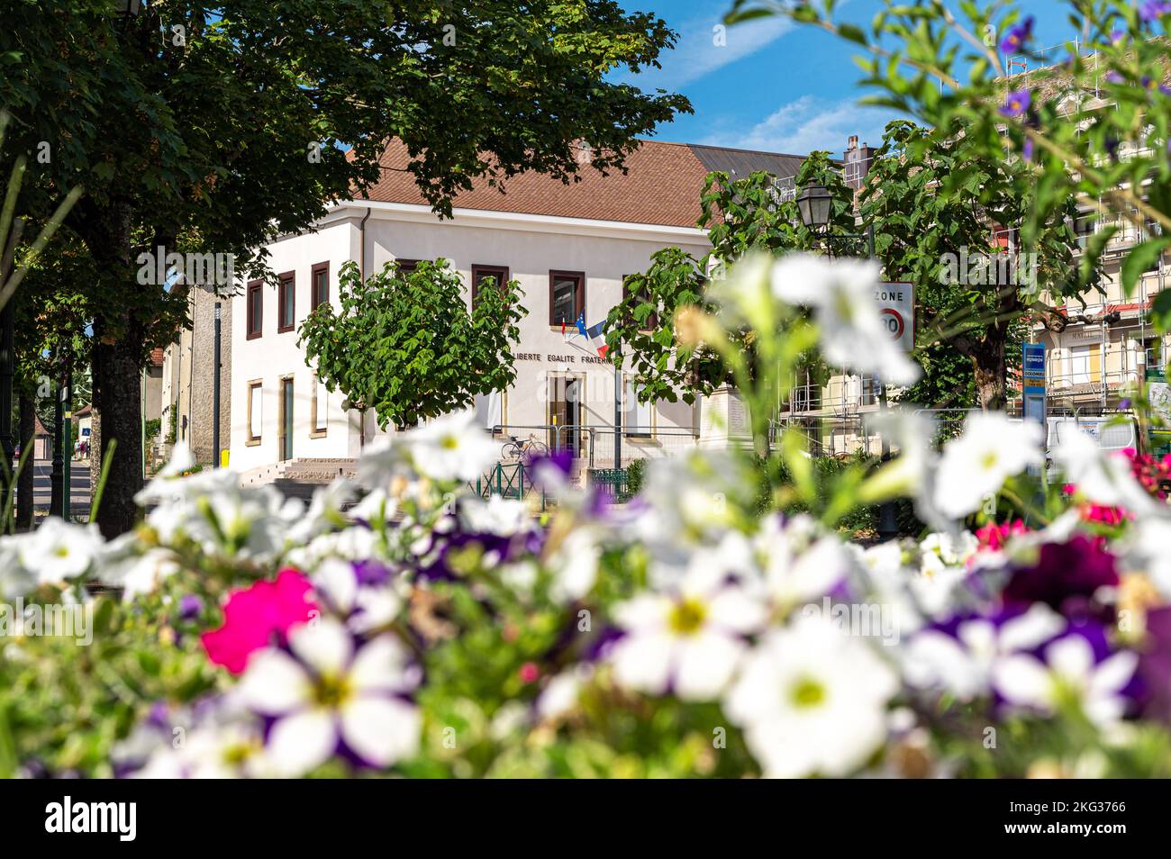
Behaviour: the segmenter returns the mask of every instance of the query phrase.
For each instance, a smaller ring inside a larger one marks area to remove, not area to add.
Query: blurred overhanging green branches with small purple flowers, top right
[[[726,20],[752,26],[766,15],[785,15],[856,46],[861,83],[870,91],[863,103],[913,117],[931,129],[927,135],[937,149],[946,149],[961,126],[973,171],[994,163],[1005,166],[997,184],[1013,186],[1006,198],[1019,204],[1014,225],[1020,247],[1042,261],[1047,238],[1057,235],[1060,221],[1081,202],[1103,226],[1087,242],[1076,276],[1052,280],[1067,294],[1094,283],[1102,250],[1118,225],[1129,224],[1138,241],[1124,252],[1121,283],[1131,295],[1142,273],[1171,249],[1171,8],[1130,0],[1068,0],[1078,41],[1067,42],[1066,56],[1055,57],[1043,56],[1032,40],[1026,4],[952,6],[944,0],[886,0],[860,23],[848,20],[850,13],[833,0],[734,0]],[[1009,39],[1011,49],[998,53],[998,44]],[[1008,55],[1034,70],[1013,75],[1005,67]],[[966,180],[954,178],[946,186],[963,187]],[[937,227],[949,228],[946,222]],[[1006,312],[1014,312],[1013,296],[1006,301],[1013,304]],[[1034,310],[1048,324],[1061,324],[1043,308]],[[1171,290],[1155,297],[1150,321],[1156,330],[1171,330]],[[986,385],[978,380],[985,386],[981,399],[993,405],[1001,401],[998,339],[981,342],[977,336],[968,344],[984,352],[973,360],[993,369],[984,378]]]

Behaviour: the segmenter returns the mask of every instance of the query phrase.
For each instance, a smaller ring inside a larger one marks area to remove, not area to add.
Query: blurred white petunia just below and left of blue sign
[[[944,446],[934,503],[951,518],[980,509],[1005,480],[1030,465],[1040,465],[1042,428],[1032,420],[1009,420],[1000,412],[974,413],[964,434]]]

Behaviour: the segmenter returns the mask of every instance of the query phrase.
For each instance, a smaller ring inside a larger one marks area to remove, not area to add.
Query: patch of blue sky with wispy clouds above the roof
[[[882,5],[848,0],[840,4],[838,16],[869,23]],[[888,110],[858,106],[864,91],[851,59],[857,48],[820,29],[763,19],[730,27],[726,46],[717,47],[712,27],[731,0],[626,0],[624,6],[657,13],[679,34],[662,70],[623,76],[643,89],[660,87],[691,99],[694,115],[660,126],[660,140],[794,154],[840,152],[850,135],[877,145],[883,126],[895,118]],[[1063,2],[1025,0],[1020,6],[1036,18],[1038,46],[1074,35]]]

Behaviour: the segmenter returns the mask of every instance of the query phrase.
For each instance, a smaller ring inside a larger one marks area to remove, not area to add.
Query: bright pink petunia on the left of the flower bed
[[[233,591],[224,606],[224,625],[200,635],[207,658],[233,674],[244,672],[259,650],[283,642],[294,626],[317,613],[313,585],[296,570],[281,570],[275,582],[256,582]]]

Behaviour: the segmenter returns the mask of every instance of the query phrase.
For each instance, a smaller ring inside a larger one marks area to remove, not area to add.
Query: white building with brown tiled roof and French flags
[[[424,202],[392,143],[384,178],[368,198],[331,207],[316,232],[282,236],[269,247],[281,286],[244,284],[233,298],[231,463],[241,472],[288,460],[349,460],[381,431],[368,415],[343,411],[297,346],[296,329],[319,301],[337,302],[338,270],[349,260],[370,274],[391,260],[409,264],[444,257],[465,283],[482,276],[514,279],[528,315],[514,346],[516,382],[478,404],[485,427],[508,435],[573,446],[583,461],[614,463],[616,373],[576,335],[575,321],[602,322],[622,298],[625,275],[645,270],[651,255],[679,246],[694,256],[708,249],[697,228],[707,173],[747,176],[767,170],[792,179],[796,156],[685,144],[644,143],[629,172],[593,170],[570,185],[526,173],[506,192],[478,184],[440,220]],[[468,298],[471,289],[468,289]],[[622,387],[629,389],[622,379]],[[623,397],[622,460],[696,444],[700,406],[637,405]]]

